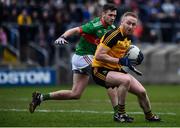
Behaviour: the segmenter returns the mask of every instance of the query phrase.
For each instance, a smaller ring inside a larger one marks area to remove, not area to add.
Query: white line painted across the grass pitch
[[[28,112],[27,109],[0,109],[0,111],[13,111],[13,112]],[[93,111],[93,110],[47,110],[47,109],[39,109],[36,112],[61,112],[61,113],[92,113],[92,114],[110,114],[114,113],[113,111]],[[143,115],[143,112],[127,112],[132,115]],[[156,112],[158,115],[176,115],[174,112]]]

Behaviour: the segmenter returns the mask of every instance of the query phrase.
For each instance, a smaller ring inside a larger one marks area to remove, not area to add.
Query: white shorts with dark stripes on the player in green
[[[88,70],[90,70],[90,65],[92,63],[93,55],[84,55],[80,56],[77,54],[74,54],[72,57],[72,70],[73,71],[79,71],[79,73],[87,71],[84,70],[85,68],[88,67]],[[91,71],[87,71],[89,74]]]

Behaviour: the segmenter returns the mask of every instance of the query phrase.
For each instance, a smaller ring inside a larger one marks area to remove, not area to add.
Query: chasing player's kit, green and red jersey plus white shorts
[[[90,65],[100,38],[114,28],[114,25],[106,25],[99,17],[80,27],[81,38],[72,57],[74,72],[90,74]]]

